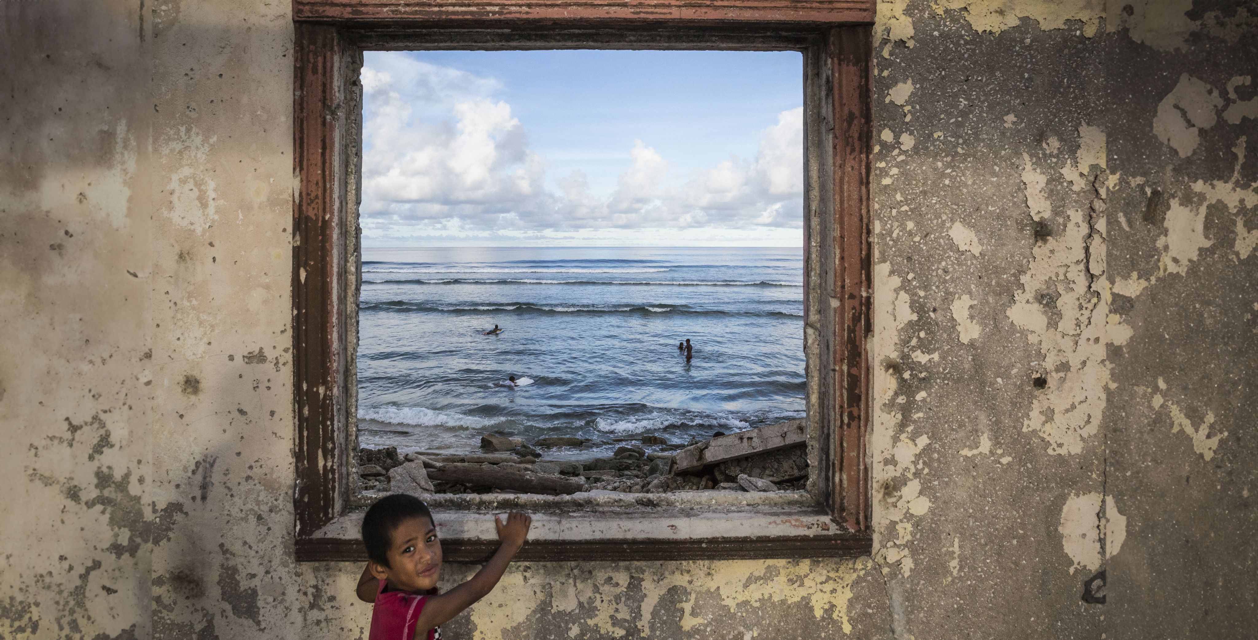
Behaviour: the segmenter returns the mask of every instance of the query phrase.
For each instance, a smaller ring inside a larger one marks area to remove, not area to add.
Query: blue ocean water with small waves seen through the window
[[[589,438],[603,453],[804,415],[799,248],[362,254],[361,446],[467,453],[502,431]],[[533,383],[496,385],[507,376]]]

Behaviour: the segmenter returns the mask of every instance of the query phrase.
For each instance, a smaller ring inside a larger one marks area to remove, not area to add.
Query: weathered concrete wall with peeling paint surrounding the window
[[[288,3],[0,10],[0,637],[365,636],[292,560]],[[1248,635],[1258,11],[878,10],[874,556],[518,565],[450,636]]]

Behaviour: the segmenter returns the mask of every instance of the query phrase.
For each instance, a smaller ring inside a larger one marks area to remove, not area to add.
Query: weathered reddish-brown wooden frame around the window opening
[[[294,0],[293,363],[296,556],[364,560],[327,534],[351,507],[364,50],[727,49],[804,54],[809,493],[825,537],[531,541],[521,560],[860,556],[872,551],[869,463],[874,0]],[[352,74],[352,78],[351,78]],[[351,226],[352,225],[352,226]],[[343,521],[342,521],[343,524]],[[827,527],[828,528],[828,527]],[[342,526],[341,531],[348,531]],[[443,538],[450,561],[492,553]]]

